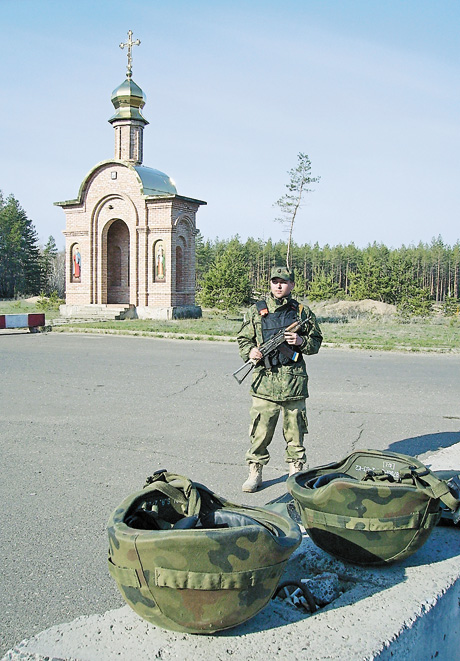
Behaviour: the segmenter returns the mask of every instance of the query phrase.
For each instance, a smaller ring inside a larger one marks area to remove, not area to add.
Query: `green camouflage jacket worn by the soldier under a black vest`
[[[294,300],[291,294],[280,300],[270,294],[265,299],[270,313],[286,309],[291,300]],[[303,342],[296,349],[302,354],[318,353],[323,336],[316,317],[308,307],[299,306],[299,310],[300,318],[308,319],[309,323],[300,331]],[[263,343],[261,317],[255,305],[247,311],[237,341],[240,356],[245,362],[249,359],[251,349]],[[258,363],[253,371],[250,392],[255,397],[275,402],[308,397],[308,375],[303,356],[296,363],[276,365],[271,369],[265,367],[264,361]]]

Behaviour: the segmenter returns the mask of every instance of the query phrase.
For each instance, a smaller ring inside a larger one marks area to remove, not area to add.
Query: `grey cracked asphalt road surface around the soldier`
[[[280,433],[265,488],[241,492],[250,398],[232,377],[239,365],[233,343],[0,334],[0,654],[124,604],[105,524],[158,468],[239,503],[284,493]],[[415,455],[460,442],[460,355],[322,349],[308,371],[311,466],[354,448]]]

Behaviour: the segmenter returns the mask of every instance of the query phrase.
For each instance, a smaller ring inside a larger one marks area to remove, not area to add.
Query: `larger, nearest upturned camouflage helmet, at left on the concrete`
[[[131,608],[164,629],[212,633],[256,615],[301,541],[289,517],[234,505],[159,471],[108,522],[109,571]]]

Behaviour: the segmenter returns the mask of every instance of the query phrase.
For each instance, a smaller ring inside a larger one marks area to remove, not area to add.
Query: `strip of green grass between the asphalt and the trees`
[[[314,306],[313,306],[314,309]],[[0,301],[0,314],[41,311],[26,301]],[[59,317],[58,311],[46,311],[46,320]],[[203,310],[201,319],[173,321],[127,319],[92,323],[72,323],[55,326],[53,332],[99,332],[136,336],[234,340],[243,321],[243,314]],[[362,315],[320,319],[324,343],[356,349],[383,351],[460,352],[460,319],[434,316],[429,319],[399,319],[397,316]]]

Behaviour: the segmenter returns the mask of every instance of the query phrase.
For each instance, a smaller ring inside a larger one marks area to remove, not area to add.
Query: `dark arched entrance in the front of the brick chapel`
[[[107,303],[129,302],[129,230],[115,220],[107,232]]]

